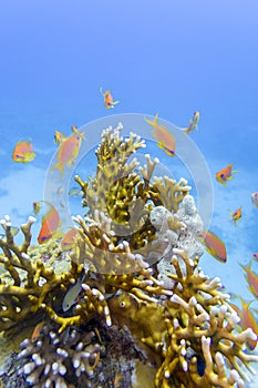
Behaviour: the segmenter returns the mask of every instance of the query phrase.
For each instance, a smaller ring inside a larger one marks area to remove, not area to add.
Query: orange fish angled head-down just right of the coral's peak
[[[144,120],[154,129],[152,136],[156,139],[159,149],[162,149],[168,156],[175,156],[175,137],[165,126],[157,123],[157,118],[158,114],[155,115],[153,121],[147,120],[146,118],[144,118]]]

